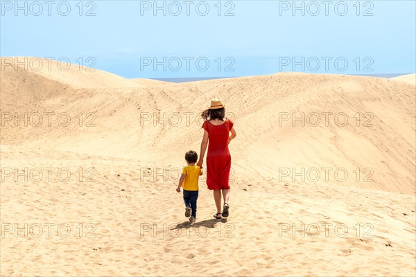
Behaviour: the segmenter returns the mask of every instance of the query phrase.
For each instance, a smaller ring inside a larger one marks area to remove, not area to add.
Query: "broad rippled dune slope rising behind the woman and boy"
[[[78,89],[27,106],[13,95],[11,103],[19,104],[2,103],[1,109],[11,112],[5,125],[13,125],[14,132],[4,132],[1,139],[6,145],[175,164],[178,154],[199,149],[200,111],[220,95],[228,116],[244,126],[232,145],[236,172],[292,181],[304,170],[316,184],[415,193],[414,88],[382,78],[281,73],[163,87]],[[28,113],[27,126],[16,124],[15,112]],[[40,127],[34,126],[40,116],[31,120],[35,112],[42,116]],[[51,127],[44,127],[48,123]]]

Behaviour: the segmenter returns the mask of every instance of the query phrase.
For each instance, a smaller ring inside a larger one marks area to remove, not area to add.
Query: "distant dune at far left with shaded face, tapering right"
[[[3,104],[59,97],[76,89],[144,87],[109,72],[39,57],[1,57],[0,66]]]

